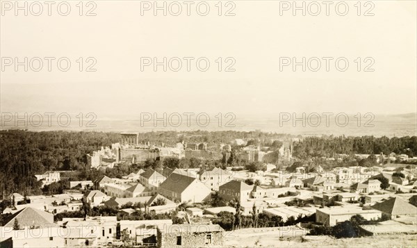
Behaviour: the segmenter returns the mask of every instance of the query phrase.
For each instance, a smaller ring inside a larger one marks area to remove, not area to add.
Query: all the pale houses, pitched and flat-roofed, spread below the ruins
[[[202,208],[207,206],[204,204],[197,205],[199,208],[194,205],[209,202],[213,192],[218,192],[217,196],[225,203],[239,201],[243,215],[252,215],[255,210],[256,214],[279,216],[284,221],[315,215],[316,222],[329,226],[350,220],[353,215],[362,215],[367,220],[389,217],[387,224],[403,225],[402,229],[406,230],[410,229],[410,225],[417,227],[416,222],[404,224],[404,220],[417,217],[415,166],[401,171],[394,167],[336,167],[328,172],[320,166],[314,172],[306,172],[306,167],[297,167],[293,173],[276,172],[273,170],[275,165],[266,167],[266,171],[257,172],[232,171],[231,168],[222,170],[218,167],[205,171],[170,168],[160,172],[138,170],[121,179],[100,176],[95,181],[71,182],[72,185],[90,188],[83,193],[66,190],[60,195],[28,197],[15,193],[11,196],[14,207],[3,211],[10,216],[0,227],[6,235],[2,242],[13,242],[17,247],[24,247],[25,244],[30,247],[114,244],[122,239],[115,236],[116,226],[119,225],[124,237],[129,236],[129,240],[135,240],[140,245],[219,246],[224,242],[224,230],[220,226],[211,222],[193,224],[190,221],[193,217],[210,220],[222,211],[236,213],[231,206]],[[388,182],[384,189],[381,187],[382,178]],[[80,210],[83,201],[92,207],[117,207],[122,216],[131,215],[138,209],[170,213],[184,202],[190,207],[185,211],[187,224],[181,225],[173,225],[172,220],[117,221],[117,217],[64,218],[62,222],[54,222],[54,214]],[[22,230],[13,230],[15,220],[29,235]],[[95,226],[95,229],[77,227],[80,225]],[[34,226],[49,232],[32,239],[30,230]],[[384,230],[379,229],[379,233]]]

